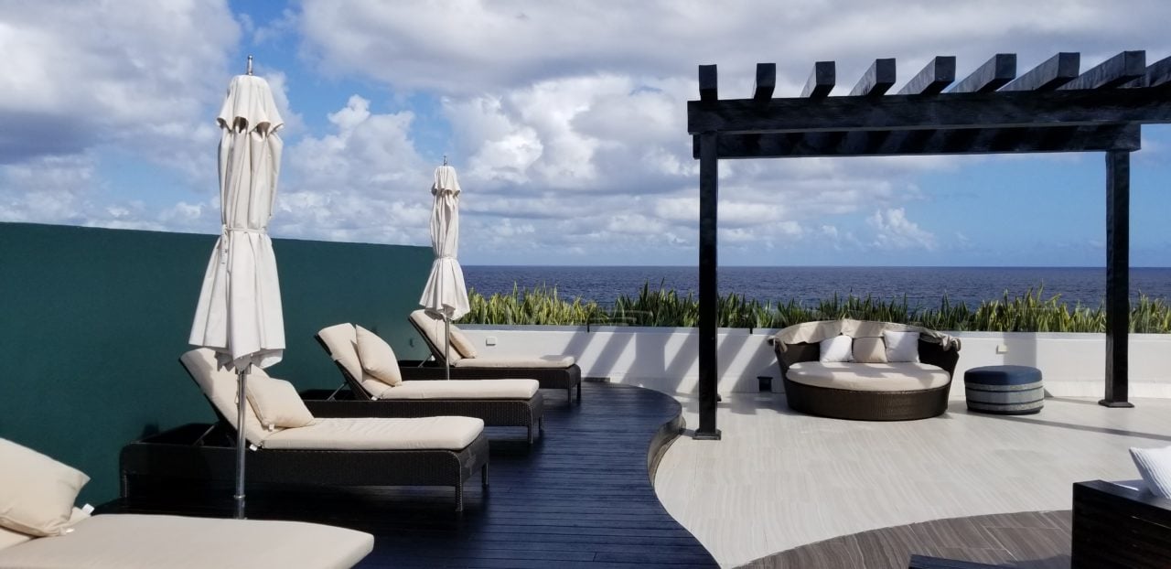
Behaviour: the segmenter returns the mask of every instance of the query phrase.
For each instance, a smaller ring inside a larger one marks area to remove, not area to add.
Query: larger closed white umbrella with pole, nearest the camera
[[[276,196],[285,124],[268,83],[248,75],[232,78],[215,117],[219,146],[222,231],[204,275],[190,342],[215,350],[220,365],[239,377],[237,420],[237,517],[244,516],[245,383],[252,365],[281,361],[285,318],[276,280],[276,256],[268,219]]]

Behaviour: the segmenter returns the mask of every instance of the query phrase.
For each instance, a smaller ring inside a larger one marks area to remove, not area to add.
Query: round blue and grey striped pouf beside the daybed
[[[985,365],[964,372],[967,409],[994,414],[1029,414],[1045,406],[1041,370],[1027,365]]]

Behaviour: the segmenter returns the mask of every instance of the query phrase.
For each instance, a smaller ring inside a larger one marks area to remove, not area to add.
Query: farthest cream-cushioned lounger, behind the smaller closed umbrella
[[[434,357],[436,365],[423,368],[429,377],[444,377],[444,325],[443,320],[432,317],[426,310],[416,310],[408,318],[426,342]],[[453,335],[461,335],[459,328],[451,327]],[[577,388],[577,403],[582,400],[582,369],[573,356],[539,356],[526,358],[484,357],[475,354],[461,354],[452,343],[451,377],[452,379],[504,379],[523,377],[536,379],[542,389],[563,389],[569,400],[573,390]],[[466,347],[465,349],[470,348]]]

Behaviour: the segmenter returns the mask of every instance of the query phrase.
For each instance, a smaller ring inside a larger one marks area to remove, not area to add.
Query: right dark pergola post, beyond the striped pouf
[[[1130,152],[1105,153],[1105,397],[1108,407],[1132,407],[1128,397],[1130,334]]]

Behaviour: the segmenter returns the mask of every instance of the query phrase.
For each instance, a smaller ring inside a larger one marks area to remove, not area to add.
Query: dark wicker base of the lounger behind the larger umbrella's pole
[[[235,430],[187,424],[122,448],[122,498],[136,482],[230,484],[235,477]],[[452,486],[464,509],[464,482],[475,472],[488,486],[488,439],[480,433],[459,451],[302,451],[261,448],[248,453],[248,484],[292,486]]]

